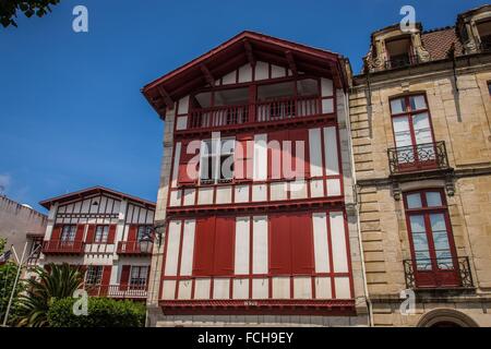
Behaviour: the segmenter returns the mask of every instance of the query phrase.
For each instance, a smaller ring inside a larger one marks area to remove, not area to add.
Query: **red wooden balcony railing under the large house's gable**
[[[286,121],[318,116],[323,113],[319,97],[277,98],[251,105],[194,109],[190,113],[188,130]]]

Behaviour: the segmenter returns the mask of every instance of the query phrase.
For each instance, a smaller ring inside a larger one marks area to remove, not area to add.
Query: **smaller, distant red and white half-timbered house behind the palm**
[[[40,205],[49,209],[40,266],[82,267],[91,296],[146,300],[152,250],[141,241],[153,233],[155,203],[96,186]]]

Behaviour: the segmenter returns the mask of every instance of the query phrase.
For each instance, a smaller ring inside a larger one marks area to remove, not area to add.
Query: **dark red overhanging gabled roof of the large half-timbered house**
[[[337,53],[301,44],[246,31],[189,63],[165,74],[142,88],[155,110],[165,117],[165,109],[193,89],[206,86],[237,68],[256,61],[291,67],[306,73],[328,76],[336,87],[348,86],[345,59]]]

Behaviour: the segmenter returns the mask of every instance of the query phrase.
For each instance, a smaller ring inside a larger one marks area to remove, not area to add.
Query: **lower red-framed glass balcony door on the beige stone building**
[[[416,286],[459,287],[458,261],[444,192],[404,195]]]

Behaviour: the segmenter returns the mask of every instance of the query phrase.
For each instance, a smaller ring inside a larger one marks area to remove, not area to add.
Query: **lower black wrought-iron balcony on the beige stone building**
[[[468,257],[419,258],[404,261],[408,289],[472,289]]]

